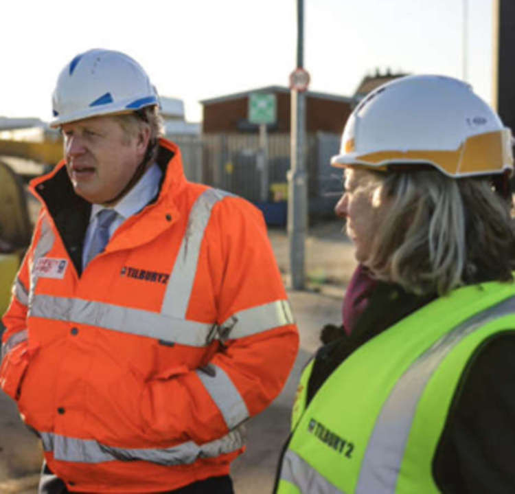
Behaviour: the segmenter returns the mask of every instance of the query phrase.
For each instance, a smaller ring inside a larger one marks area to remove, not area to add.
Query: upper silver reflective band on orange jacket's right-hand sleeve
[[[221,324],[233,324],[229,338],[243,338],[268,329],[293,324],[294,319],[288,300],[276,300],[269,304],[247,308],[235,313]]]

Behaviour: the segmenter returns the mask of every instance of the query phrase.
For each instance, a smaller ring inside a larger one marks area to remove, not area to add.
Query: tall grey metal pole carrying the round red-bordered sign
[[[297,67],[304,65],[304,0],[297,0]],[[308,219],[308,188],[304,166],[306,95],[291,91],[290,170],[288,172],[288,242],[290,283],[304,289],[304,245]]]

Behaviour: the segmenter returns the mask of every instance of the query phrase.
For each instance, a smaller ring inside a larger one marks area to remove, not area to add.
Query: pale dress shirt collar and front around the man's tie
[[[91,207],[91,216],[89,216],[89,225],[84,237],[84,248],[82,249],[82,269],[86,267],[87,252],[91,245],[91,238],[98,223],[97,213],[104,209],[114,209],[117,212],[115,221],[109,227],[109,238],[113,233],[122,225],[124,221],[141,211],[152,199],[154,199],[159,191],[159,181],[163,172],[157,164],[153,164],[146,170],[141,179],[137,181],[136,185],[130,189],[124,197],[113,207],[106,208],[101,204],[93,204]]]

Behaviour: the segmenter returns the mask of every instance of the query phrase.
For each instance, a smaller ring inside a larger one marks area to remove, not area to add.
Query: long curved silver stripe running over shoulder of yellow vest
[[[411,424],[429,379],[461,340],[485,324],[514,312],[515,297],[512,297],[470,317],[436,341],[404,372],[376,420],[361,464],[356,494],[395,493]]]

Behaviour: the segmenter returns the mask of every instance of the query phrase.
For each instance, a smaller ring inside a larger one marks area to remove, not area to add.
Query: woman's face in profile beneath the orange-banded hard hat
[[[347,220],[347,236],[356,247],[354,256],[366,265],[374,236],[389,210],[389,201],[376,174],[361,168],[345,168],[343,178],[343,195],[334,212]]]

